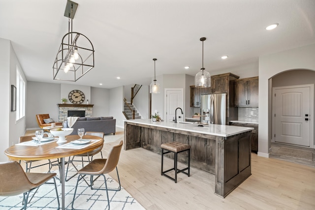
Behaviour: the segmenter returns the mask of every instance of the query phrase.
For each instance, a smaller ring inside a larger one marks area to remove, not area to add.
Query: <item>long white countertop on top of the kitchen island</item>
[[[151,119],[136,119],[136,120],[124,120],[126,122],[134,122],[144,125],[152,125],[157,127],[171,128],[176,130],[184,130],[195,133],[203,133],[214,136],[228,137],[235,134],[244,133],[247,131],[253,130],[252,127],[239,127],[239,126],[230,126],[230,125],[217,125],[210,124],[204,125],[203,127],[198,126],[196,123],[187,123],[187,122],[167,122],[167,121],[158,121],[153,122]]]

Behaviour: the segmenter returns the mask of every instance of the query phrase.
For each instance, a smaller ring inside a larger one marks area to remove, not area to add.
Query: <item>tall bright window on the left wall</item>
[[[25,116],[25,81],[16,67],[16,120]]]

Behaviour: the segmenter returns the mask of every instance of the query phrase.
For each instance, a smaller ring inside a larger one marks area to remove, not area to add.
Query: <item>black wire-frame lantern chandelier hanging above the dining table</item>
[[[54,62],[54,80],[76,82],[94,68],[93,44],[82,33],[72,31],[72,21],[77,8],[78,3],[67,0],[64,16],[68,18],[68,33],[63,36]]]

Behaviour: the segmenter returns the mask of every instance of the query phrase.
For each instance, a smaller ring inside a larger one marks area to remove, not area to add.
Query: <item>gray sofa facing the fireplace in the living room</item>
[[[78,118],[72,126],[73,132],[70,135],[78,135],[78,128],[84,128],[85,132],[95,131],[103,132],[104,134],[116,132],[116,119],[113,117],[99,118]]]

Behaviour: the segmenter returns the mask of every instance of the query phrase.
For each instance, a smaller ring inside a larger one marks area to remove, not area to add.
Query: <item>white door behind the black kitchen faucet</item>
[[[175,119],[175,110],[180,107],[184,112],[184,99],[182,88],[165,89],[165,120],[170,121]],[[184,121],[184,115],[180,109],[177,110],[177,121]]]

